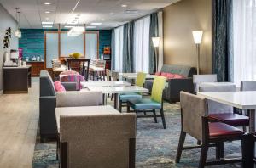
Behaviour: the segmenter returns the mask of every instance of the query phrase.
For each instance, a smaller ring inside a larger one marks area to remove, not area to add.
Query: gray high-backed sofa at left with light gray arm
[[[40,72],[39,128],[40,142],[58,135],[55,107],[102,105],[102,92],[76,91],[76,83],[64,82],[67,92],[55,92],[54,82],[47,70]]]

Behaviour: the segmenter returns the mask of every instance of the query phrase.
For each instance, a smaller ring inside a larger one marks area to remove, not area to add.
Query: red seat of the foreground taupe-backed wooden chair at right
[[[221,122],[212,122],[209,123],[209,134],[210,138],[227,138],[227,136],[234,137],[243,135],[244,132],[234,126],[229,126]]]

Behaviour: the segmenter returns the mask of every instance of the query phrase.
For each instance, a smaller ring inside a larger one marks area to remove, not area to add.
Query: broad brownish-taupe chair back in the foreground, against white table
[[[61,116],[67,167],[135,167],[136,115]]]

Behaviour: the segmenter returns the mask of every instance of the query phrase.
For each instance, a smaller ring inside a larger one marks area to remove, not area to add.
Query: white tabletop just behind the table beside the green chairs
[[[82,81],[83,87],[129,87],[131,83],[127,81]]]

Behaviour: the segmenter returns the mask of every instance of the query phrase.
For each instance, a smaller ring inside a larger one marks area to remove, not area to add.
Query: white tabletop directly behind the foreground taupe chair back
[[[114,109],[110,105],[55,108],[55,117],[56,117],[58,132],[60,132],[61,116],[106,115],[106,114],[119,114],[119,111]]]

